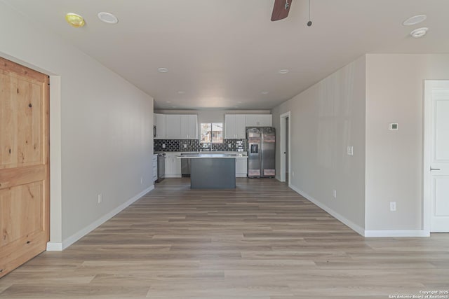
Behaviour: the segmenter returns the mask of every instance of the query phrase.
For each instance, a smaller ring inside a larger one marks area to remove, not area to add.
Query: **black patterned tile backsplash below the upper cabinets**
[[[245,151],[245,139],[224,139],[222,144],[212,144],[212,151]],[[154,139],[154,151],[208,151],[210,144],[201,144],[199,140]]]

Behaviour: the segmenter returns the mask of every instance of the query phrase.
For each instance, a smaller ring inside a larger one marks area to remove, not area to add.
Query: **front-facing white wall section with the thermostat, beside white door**
[[[366,230],[422,230],[424,80],[448,78],[449,55],[366,56]]]

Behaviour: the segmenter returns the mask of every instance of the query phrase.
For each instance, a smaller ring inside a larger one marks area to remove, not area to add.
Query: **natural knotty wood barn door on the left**
[[[48,82],[0,57],[0,277],[49,239]]]

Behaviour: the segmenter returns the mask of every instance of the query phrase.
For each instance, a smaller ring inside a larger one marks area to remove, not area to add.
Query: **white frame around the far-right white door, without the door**
[[[431,221],[431,134],[432,134],[432,89],[449,88],[448,80],[424,81],[424,141],[422,162],[422,223],[424,233],[430,234]]]

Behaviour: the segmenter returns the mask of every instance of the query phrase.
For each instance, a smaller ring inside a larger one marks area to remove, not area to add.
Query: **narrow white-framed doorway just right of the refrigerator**
[[[288,183],[290,186],[290,132],[291,132],[291,116],[290,111],[281,114],[281,167],[279,181]]]

